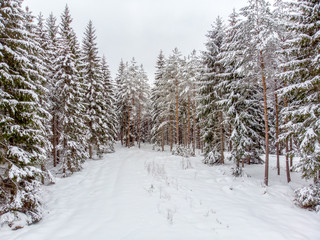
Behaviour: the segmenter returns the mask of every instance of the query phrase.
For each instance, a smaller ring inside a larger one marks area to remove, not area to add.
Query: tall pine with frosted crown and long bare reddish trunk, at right
[[[247,77],[253,78],[262,86],[264,125],[265,125],[265,178],[269,180],[269,123],[268,123],[268,99],[267,83],[270,81],[270,66],[272,59],[274,22],[269,9],[269,3],[265,0],[249,0],[248,6],[241,9],[244,20],[241,22],[241,33],[244,45],[244,61],[242,69]],[[269,61],[268,61],[269,60]]]

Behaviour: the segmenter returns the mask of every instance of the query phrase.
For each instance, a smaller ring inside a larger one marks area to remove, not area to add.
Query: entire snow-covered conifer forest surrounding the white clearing
[[[135,58],[113,79],[94,23],[79,40],[68,6],[60,17],[31,10],[0,2],[0,232],[41,221],[44,188],[91,160],[149,145],[150,158],[172,153],[184,169],[228,166],[235,181],[259,172],[261,189],[269,175],[288,189],[306,179],[288,204],[320,212],[320,1],[248,0],[217,16],[205,51],[159,49],[152,85]]]

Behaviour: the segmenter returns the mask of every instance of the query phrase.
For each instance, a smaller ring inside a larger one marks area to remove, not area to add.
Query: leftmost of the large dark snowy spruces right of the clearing
[[[203,122],[202,137],[206,144],[206,164],[224,163],[224,126],[223,112],[217,102],[221,99],[219,78],[223,71],[217,62],[218,54],[225,37],[224,26],[220,17],[216,19],[213,29],[209,31],[207,50],[203,53],[203,78],[201,79],[201,117]]]

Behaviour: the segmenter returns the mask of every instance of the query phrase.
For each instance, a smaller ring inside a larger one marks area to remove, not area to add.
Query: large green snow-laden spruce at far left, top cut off
[[[27,21],[21,1],[1,1],[0,213],[10,215],[3,219],[13,228],[21,227],[13,221],[21,220],[22,214],[27,224],[42,218],[39,165],[47,151],[40,103],[42,77],[31,61],[37,57],[38,46],[24,25]]]

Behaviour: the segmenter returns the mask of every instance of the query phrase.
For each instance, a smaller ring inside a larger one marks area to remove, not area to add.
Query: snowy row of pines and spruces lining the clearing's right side
[[[182,57],[160,53],[152,89],[152,140],[174,154],[204,150],[206,164],[265,163],[285,155],[286,176],[302,172],[314,185],[297,191],[303,207],[320,204],[320,4],[319,1],[248,1],[225,25],[217,18],[206,50]],[[200,136],[200,138],[199,138]],[[175,148],[173,145],[175,144]],[[265,154],[265,159],[261,159]],[[293,165],[293,156],[300,157]],[[318,190],[317,190],[318,189]],[[315,195],[317,197],[315,197]],[[312,200],[310,200],[312,199]]]

